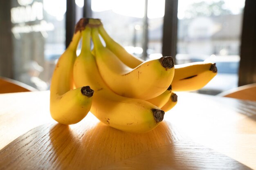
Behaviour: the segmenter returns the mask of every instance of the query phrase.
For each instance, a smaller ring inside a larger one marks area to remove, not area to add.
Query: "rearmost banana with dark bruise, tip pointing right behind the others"
[[[112,40],[110,36],[105,33],[106,31],[103,30],[103,25],[99,26],[99,30],[103,39],[104,37],[106,39],[104,39],[106,42],[106,47],[114,46],[114,43],[112,43],[112,41],[114,40]],[[120,60],[122,60],[122,62],[124,62],[124,64],[132,66],[133,68],[143,62],[143,60],[136,60],[137,58],[134,55],[130,55],[128,52],[125,52],[124,50],[124,48],[121,50],[120,47],[117,47],[115,51],[115,53],[118,54],[117,56],[120,58]],[[122,55],[122,53],[124,53],[124,55]],[[207,70],[205,70],[205,68],[207,68]],[[193,69],[195,71],[193,72],[194,74],[190,72]],[[215,77],[215,75],[217,74],[217,68],[216,65],[212,63],[195,62],[175,65],[174,72],[175,75],[171,83],[173,85],[173,91],[196,91],[204,87],[207,83],[211,81],[211,79],[213,79],[213,77]]]

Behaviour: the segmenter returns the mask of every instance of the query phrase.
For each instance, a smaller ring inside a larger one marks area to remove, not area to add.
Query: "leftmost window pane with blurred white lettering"
[[[12,0],[14,79],[49,89],[65,50],[65,12],[65,0]]]

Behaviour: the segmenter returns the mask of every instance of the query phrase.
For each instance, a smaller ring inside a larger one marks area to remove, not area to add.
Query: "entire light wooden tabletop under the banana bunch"
[[[0,95],[0,170],[256,169],[256,102],[178,93],[154,130],[132,134],[91,113],[49,115],[49,91]]]

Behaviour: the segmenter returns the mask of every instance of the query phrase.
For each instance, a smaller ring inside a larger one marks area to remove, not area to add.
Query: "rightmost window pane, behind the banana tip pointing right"
[[[215,95],[238,86],[245,0],[179,0],[177,64],[208,60],[218,74],[199,93]]]

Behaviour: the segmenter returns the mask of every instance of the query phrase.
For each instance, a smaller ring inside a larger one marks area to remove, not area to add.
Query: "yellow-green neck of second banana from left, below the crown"
[[[91,51],[91,28],[86,26],[85,29],[82,31],[82,48],[81,53],[87,53]]]

